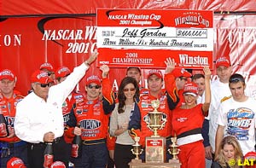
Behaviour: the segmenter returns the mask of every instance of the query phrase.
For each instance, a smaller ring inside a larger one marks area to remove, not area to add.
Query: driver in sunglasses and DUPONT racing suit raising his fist
[[[75,167],[105,168],[108,163],[108,120],[114,108],[113,91],[108,79],[109,67],[102,65],[102,81],[92,75],[86,78],[86,96],[75,103],[67,132],[81,136],[82,155],[73,159]],[[80,128],[77,126],[80,125]]]

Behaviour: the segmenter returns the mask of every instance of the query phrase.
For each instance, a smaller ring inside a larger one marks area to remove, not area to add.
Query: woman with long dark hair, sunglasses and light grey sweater
[[[131,159],[135,156],[131,153],[133,139],[128,133],[130,117],[134,110],[138,110],[136,103],[139,96],[137,81],[131,77],[125,77],[119,85],[118,101],[110,118],[110,134],[116,136],[113,159],[116,168],[129,168]]]

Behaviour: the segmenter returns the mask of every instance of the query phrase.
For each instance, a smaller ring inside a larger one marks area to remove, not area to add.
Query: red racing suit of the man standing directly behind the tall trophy
[[[161,90],[158,97],[150,95],[149,90],[142,90],[140,93],[140,100],[137,102],[134,113],[131,116],[129,123],[129,130],[131,136],[139,136],[140,144],[145,147],[146,136],[153,136],[153,131],[149,130],[146,121],[148,120],[148,113],[154,111],[151,106],[151,101],[159,100],[160,106],[157,109],[159,112],[164,113],[163,119],[166,119],[166,125],[162,130],[158,130],[160,136],[171,136],[172,128],[172,109],[177,106],[179,101],[177,96],[177,88],[174,82],[174,76],[171,73],[165,76],[166,90]]]

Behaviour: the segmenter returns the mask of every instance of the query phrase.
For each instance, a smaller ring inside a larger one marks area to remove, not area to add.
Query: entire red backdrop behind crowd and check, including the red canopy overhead
[[[88,58],[96,47],[96,8],[129,9],[211,9],[214,10],[213,61],[223,55],[230,45],[230,61],[234,72],[247,78],[250,94],[256,95],[256,9],[255,1],[60,1],[38,2],[36,0],[2,2],[0,26],[0,69],[9,68],[18,77],[16,90],[26,95],[30,89],[31,73],[44,61],[55,68],[71,69]],[[242,14],[217,14],[220,11]],[[51,38],[47,40],[44,30]],[[62,35],[58,31],[63,30]],[[81,30],[83,39],[72,39],[72,33]],[[65,32],[65,33],[64,33]],[[55,34],[54,34],[55,33]],[[63,35],[64,34],[64,35]],[[77,43],[74,44],[74,43]],[[228,43],[228,44],[227,44]],[[80,48],[79,48],[80,47]],[[104,56],[104,55],[99,55]],[[143,70],[143,76],[148,70]],[[96,64],[87,74],[100,74]],[[125,68],[111,68],[113,86],[125,76]],[[215,78],[215,77],[213,77]],[[144,84],[144,82],[143,82]],[[84,80],[80,82],[80,88]],[[117,89],[117,88],[114,88]]]

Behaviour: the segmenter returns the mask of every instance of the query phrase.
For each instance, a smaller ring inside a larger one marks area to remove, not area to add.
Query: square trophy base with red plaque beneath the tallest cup
[[[164,163],[166,160],[166,138],[146,137],[146,163]]]

